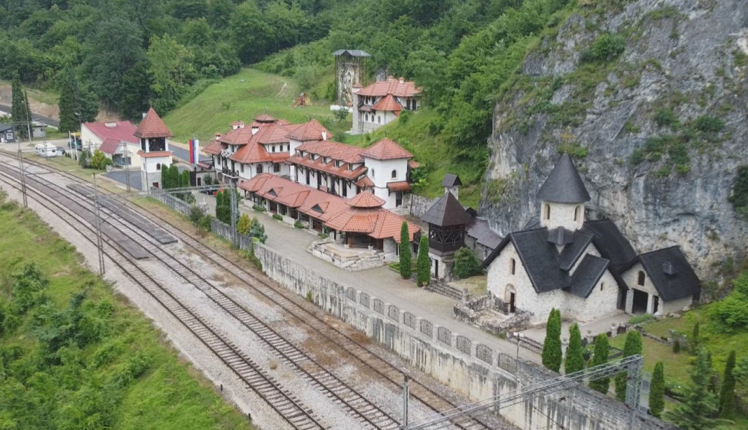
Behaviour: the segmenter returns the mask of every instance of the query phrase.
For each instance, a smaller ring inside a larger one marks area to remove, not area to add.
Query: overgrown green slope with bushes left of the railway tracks
[[[70,244],[1,194],[0,250],[0,428],[251,428]]]

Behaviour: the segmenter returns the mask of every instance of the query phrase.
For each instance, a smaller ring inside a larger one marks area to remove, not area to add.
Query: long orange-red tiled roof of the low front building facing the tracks
[[[352,207],[350,206],[350,200],[346,201],[334,194],[309,188],[271,173],[260,173],[254,178],[240,183],[239,188],[254,192],[268,200],[295,207],[304,215],[317,218],[328,227],[338,231],[364,233],[374,239],[392,238],[396,242],[400,240],[403,218],[381,207]],[[274,192],[271,193],[271,190]],[[361,198],[366,199],[368,197]],[[316,209],[320,209],[322,212]],[[413,235],[419,230],[417,225],[408,222],[408,233],[411,241]]]

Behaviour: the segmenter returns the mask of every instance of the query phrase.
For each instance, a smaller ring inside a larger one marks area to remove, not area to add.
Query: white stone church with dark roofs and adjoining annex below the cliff
[[[679,246],[638,254],[610,220],[587,221],[582,179],[563,154],[537,194],[539,219],[509,233],[482,263],[488,291],[510,313],[545,322],[551,308],[580,322],[626,313],[660,315],[698,299],[698,277]]]

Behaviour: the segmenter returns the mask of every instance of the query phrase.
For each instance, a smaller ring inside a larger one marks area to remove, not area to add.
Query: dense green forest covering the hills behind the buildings
[[[75,127],[93,119],[91,105],[122,118],[149,105],[166,114],[251,64],[330,100],[331,53],[364,49],[372,55],[364,83],[383,71],[423,85],[431,112],[414,124],[417,139],[449,148],[438,157],[476,183],[496,100],[537,36],[577,7],[567,3],[0,0],[0,79],[18,73],[27,86],[65,94],[61,116],[85,116],[61,118]]]

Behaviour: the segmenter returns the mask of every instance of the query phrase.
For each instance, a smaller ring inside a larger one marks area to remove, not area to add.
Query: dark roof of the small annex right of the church
[[[681,247],[672,246],[639,256],[654,288],[664,301],[684,298],[701,291],[699,278],[688,264]]]

